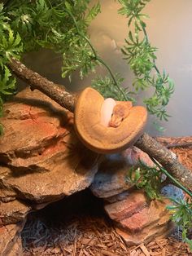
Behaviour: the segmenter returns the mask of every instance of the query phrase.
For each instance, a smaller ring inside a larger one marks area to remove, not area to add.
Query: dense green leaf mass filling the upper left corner
[[[86,40],[87,28],[100,11],[90,0],[15,0],[0,4],[0,115],[7,95],[15,92],[8,63],[28,51],[51,49],[63,55],[63,77],[78,69],[81,77],[97,60]],[[0,126],[0,132],[2,126]]]

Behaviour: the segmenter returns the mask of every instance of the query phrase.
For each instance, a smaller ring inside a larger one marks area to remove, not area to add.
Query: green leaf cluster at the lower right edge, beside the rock
[[[168,210],[172,213],[172,221],[182,229],[182,240],[190,245],[192,250],[192,241],[187,238],[187,232],[192,228],[192,203],[187,200],[172,199],[174,205],[169,205]]]

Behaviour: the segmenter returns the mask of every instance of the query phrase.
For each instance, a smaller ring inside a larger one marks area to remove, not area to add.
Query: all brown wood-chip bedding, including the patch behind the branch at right
[[[192,137],[160,138],[159,141],[168,145],[177,154],[180,161],[192,170]],[[173,143],[175,148],[171,146]],[[82,200],[82,198],[77,198],[77,201]],[[69,205],[63,204],[63,212],[66,213],[66,210],[71,208],[71,204],[76,205],[76,202],[70,202]],[[29,216],[22,232],[24,256],[192,256],[188,245],[181,242],[179,230],[174,233],[174,236],[167,239],[154,240],[148,245],[127,247],[116,233],[111,221],[102,210],[99,210],[101,205],[97,205],[97,201],[90,202],[89,209],[91,211],[83,214],[75,213],[73,217],[70,212],[67,217],[63,216],[60,205],[56,206],[59,216],[50,214],[49,207],[44,209],[42,214],[35,213]],[[78,204],[76,208],[81,212],[81,207]],[[52,206],[53,209],[55,206]],[[95,213],[96,209],[99,214]],[[46,216],[47,213],[49,217]],[[61,216],[62,218],[60,218]]]

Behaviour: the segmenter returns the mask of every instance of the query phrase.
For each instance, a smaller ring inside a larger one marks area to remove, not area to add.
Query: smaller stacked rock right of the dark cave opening
[[[135,158],[142,157],[146,164],[153,165],[144,152],[138,148],[132,151],[135,151]],[[125,183],[130,168],[129,157],[130,149],[124,151],[123,156],[106,157],[90,188],[95,196],[104,199],[105,210],[115,221],[116,232],[130,246],[167,236],[172,232],[173,224],[166,210],[170,205],[168,199],[150,201],[145,192],[134,189],[132,183]]]

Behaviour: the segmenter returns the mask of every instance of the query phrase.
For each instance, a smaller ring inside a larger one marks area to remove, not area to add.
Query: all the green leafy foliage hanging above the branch
[[[95,66],[103,64],[111,77],[98,78],[93,82],[94,88],[107,97],[116,96],[119,100],[133,100],[128,88],[122,86],[123,79],[113,75],[111,69],[98,56],[97,51],[89,42],[87,28],[100,11],[100,4],[89,8],[90,0],[15,0],[7,7],[1,4],[0,14],[0,45],[2,73],[4,64],[11,57],[19,58],[23,52],[37,51],[41,48],[52,49],[63,55],[62,76],[71,77],[72,72],[79,70],[80,77],[85,77]],[[168,120],[165,106],[174,90],[174,84],[168,75],[159,73],[155,66],[155,51],[147,34],[142,14],[143,8],[150,0],[120,0],[120,14],[129,18],[129,26],[134,26],[134,33],[122,49],[124,59],[128,61],[135,73],[133,86],[135,94],[140,90],[155,88],[154,95],[144,99],[148,111],[160,120]],[[143,32],[144,37],[139,38]],[[155,68],[157,74],[151,75]],[[106,82],[106,86],[104,85]],[[103,86],[103,89],[101,89]]]

